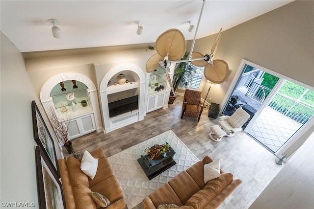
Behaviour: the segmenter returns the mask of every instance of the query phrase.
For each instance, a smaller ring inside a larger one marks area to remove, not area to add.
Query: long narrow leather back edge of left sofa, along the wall
[[[58,159],[58,165],[60,169],[60,177],[62,182],[64,200],[67,209],[76,209],[73,188],[71,186],[69,171],[66,161],[64,159]]]

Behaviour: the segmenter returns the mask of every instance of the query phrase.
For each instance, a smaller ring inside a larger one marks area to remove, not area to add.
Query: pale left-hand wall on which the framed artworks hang
[[[0,156],[2,202],[38,205],[31,101],[35,100],[47,124],[26,72],[21,52],[1,32]],[[60,151],[56,146],[57,157]]]

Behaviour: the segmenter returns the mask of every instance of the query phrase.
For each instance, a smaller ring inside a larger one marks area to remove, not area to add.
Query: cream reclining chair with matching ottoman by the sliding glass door
[[[250,118],[250,114],[238,108],[232,116],[219,117],[218,125],[210,127],[209,138],[220,141],[224,136],[233,137],[236,132],[242,131],[241,126]]]

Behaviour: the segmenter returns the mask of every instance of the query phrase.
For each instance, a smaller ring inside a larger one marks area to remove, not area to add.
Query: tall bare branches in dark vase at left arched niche
[[[68,139],[68,132],[69,132],[69,117],[66,117],[64,121],[62,121],[57,114],[55,113],[54,108],[49,109],[49,115],[50,115],[50,122],[52,125],[52,128],[56,134],[56,137],[61,141],[67,151],[70,153],[73,152],[72,148],[72,142]]]

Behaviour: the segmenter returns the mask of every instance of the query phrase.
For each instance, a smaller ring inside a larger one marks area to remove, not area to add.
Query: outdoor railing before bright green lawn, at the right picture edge
[[[314,106],[297,102],[282,93],[277,93],[268,106],[300,124],[304,124],[314,115]]]

